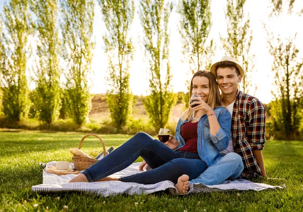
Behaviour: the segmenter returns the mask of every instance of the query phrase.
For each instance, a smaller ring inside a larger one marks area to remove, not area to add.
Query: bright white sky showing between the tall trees
[[[177,1],[177,0],[174,0]],[[0,12],[3,13],[4,0],[0,0]],[[134,59],[130,63],[130,87],[135,95],[146,95],[149,85],[149,73],[147,59],[144,57],[144,48],[142,44],[143,31],[138,15],[138,0],[135,0],[136,12],[130,30],[130,36],[134,41],[135,53]],[[250,54],[255,55],[254,72],[252,73],[252,84],[257,86],[257,90],[250,89],[248,94],[258,97],[263,103],[269,103],[273,100],[271,90],[273,89],[274,74],[271,71],[272,57],[267,49],[267,34],[264,25],[274,32],[274,35],[280,35],[282,38],[293,37],[297,33],[295,45],[300,50],[299,56],[303,58],[303,27],[298,23],[303,23],[303,16],[299,17],[296,13],[292,16],[282,15],[279,18],[269,19],[271,12],[269,1],[247,0],[244,6],[246,16],[250,17],[250,28],[252,30],[252,44]],[[215,57],[213,62],[219,61],[225,52],[222,48],[220,35],[225,37],[226,22],[224,9],[226,0],[213,0],[211,3],[213,26],[210,31],[209,39],[214,39],[216,44]],[[303,1],[296,1],[294,11],[303,8]],[[190,79],[187,75],[188,66],[182,62],[181,40],[178,32],[179,15],[175,8],[170,16],[170,65],[172,73],[172,85],[174,92],[186,91],[185,79]],[[95,1],[95,17],[93,23],[94,39],[96,42],[93,51],[91,79],[91,93],[105,93],[107,90],[107,56],[104,52],[104,42],[102,36],[106,32],[106,27],[102,21],[100,7]],[[163,73],[165,74],[165,73]],[[164,76],[164,75],[163,75]],[[31,84],[33,85],[33,84]]]

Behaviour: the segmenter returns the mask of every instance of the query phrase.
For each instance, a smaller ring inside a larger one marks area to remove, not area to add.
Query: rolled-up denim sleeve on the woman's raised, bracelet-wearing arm
[[[210,134],[210,137],[215,147],[222,151],[227,148],[230,139],[231,116],[225,108],[216,116],[221,127],[215,135]]]

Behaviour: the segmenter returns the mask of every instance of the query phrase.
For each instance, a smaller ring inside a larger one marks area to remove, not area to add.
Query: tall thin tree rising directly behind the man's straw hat
[[[252,30],[250,30],[250,19],[244,18],[243,7],[246,0],[227,0],[227,8],[225,17],[227,21],[227,38],[220,37],[223,43],[223,48],[226,54],[237,60],[245,70],[245,75],[242,78],[240,85],[244,93],[248,93],[251,85],[250,75],[254,64],[251,56],[250,45],[252,40]]]

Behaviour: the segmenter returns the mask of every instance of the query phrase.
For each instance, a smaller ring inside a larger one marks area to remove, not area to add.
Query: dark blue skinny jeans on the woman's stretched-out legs
[[[155,184],[164,180],[177,183],[182,174],[196,178],[208,166],[197,153],[173,151],[159,140],[139,132],[111,154],[93,164],[82,173],[94,182],[119,172],[141,156],[152,170],[119,178],[122,182]]]

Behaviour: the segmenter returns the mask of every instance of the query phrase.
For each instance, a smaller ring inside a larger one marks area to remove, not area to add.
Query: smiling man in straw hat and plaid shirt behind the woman
[[[265,106],[259,99],[238,90],[244,70],[233,58],[224,56],[211,66],[211,72],[217,78],[222,102],[232,116],[232,136],[228,148],[222,151],[226,155],[189,182],[215,185],[239,176],[266,176],[261,152],[265,143]]]

